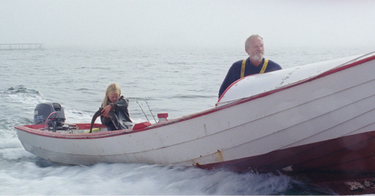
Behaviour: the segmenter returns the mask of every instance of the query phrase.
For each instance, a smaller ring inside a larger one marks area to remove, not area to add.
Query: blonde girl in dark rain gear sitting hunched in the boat
[[[129,118],[129,111],[127,110],[129,100],[121,96],[121,89],[116,83],[112,83],[105,91],[105,97],[102,103],[102,115],[100,119],[102,124],[107,126],[108,131],[127,129],[132,127],[133,122]],[[117,129],[114,122],[108,116],[108,112],[114,111],[118,118]]]

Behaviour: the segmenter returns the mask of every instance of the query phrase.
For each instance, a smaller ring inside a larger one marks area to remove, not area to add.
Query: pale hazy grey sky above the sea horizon
[[[0,0],[0,43],[375,46],[375,0]],[[375,49],[375,47],[374,47]]]

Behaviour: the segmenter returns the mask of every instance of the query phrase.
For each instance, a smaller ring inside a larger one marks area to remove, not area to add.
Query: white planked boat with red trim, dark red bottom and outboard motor
[[[117,131],[68,124],[51,102],[37,106],[33,125],[15,128],[25,150],[52,162],[279,171],[338,194],[368,194],[375,192],[374,73],[375,52],[244,77],[214,108],[155,124]]]

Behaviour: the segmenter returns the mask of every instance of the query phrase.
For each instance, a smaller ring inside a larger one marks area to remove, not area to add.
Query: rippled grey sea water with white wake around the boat
[[[289,68],[373,50],[284,47],[266,50],[265,57]],[[0,195],[317,194],[290,177],[256,171],[56,164],[26,152],[13,128],[31,124],[35,106],[47,101],[63,105],[66,122],[88,123],[110,83],[118,83],[129,99],[134,122],[154,123],[157,113],[168,113],[173,119],[204,111],[217,102],[232,63],[246,57],[243,49],[230,47],[46,46],[46,50],[0,51]]]

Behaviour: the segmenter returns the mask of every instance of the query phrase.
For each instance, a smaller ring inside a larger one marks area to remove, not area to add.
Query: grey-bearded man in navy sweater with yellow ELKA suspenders
[[[245,41],[245,51],[248,53],[249,57],[233,63],[231,68],[229,68],[229,71],[221,84],[219,98],[229,85],[240,78],[248,75],[263,74],[264,72],[271,72],[281,69],[281,66],[278,63],[275,63],[272,60],[267,60],[263,57],[263,38],[259,35],[251,35]]]

